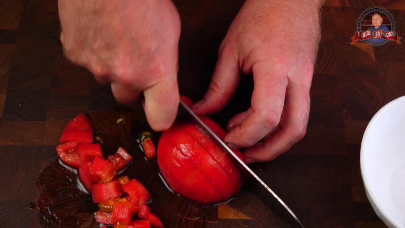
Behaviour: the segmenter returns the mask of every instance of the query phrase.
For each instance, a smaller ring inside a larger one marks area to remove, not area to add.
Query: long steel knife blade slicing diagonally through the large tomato
[[[303,224],[291,211],[291,209],[266,185],[227,145],[222,141],[204,122],[201,120],[187,105],[180,101],[179,115],[188,117],[196,123],[202,131],[204,131],[214,142],[216,142],[222,150],[232,159],[235,165],[239,168],[242,174],[252,181],[249,185],[252,193],[256,195],[264,204],[269,206],[273,211],[281,217],[292,228],[303,228]]]

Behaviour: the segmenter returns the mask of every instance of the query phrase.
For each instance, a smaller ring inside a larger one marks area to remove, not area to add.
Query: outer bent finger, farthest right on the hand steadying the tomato
[[[287,94],[280,129],[264,143],[245,149],[247,163],[273,160],[305,136],[310,108],[309,87],[302,84],[294,87],[289,85]]]

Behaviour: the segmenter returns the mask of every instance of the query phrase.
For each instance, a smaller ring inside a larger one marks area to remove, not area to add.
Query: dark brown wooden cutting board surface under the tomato
[[[179,86],[196,101],[243,1],[175,2],[183,20]],[[275,161],[252,166],[307,227],[386,227],[364,192],[360,142],[377,110],[405,95],[405,46],[351,45],[350,38],[358,15],[369,6],[389,9],[405,37],[405,3],[348,2],[326,0],[322,9],[307,135]],[[63,57],[58,37],[56,0],[0,0],[1,227],[98,227],[96,205],[77,189],[76,175],[60,166],[55,151],[64,125],[79,112],[89,114],[104,152],[124,146],[134,155],[126,173],[151,191],[151,208],[166,227],[288,227],[246,190],[219,206],[171,194],[156,162],[145,161],[135,141],[149,129],[141,106],[115,102],[109,86]],[[249,106],[251,92],[251,78],[244,77],[229,105],[212,117],[226,125]],[[117,124],[121,117],[125,122]]]

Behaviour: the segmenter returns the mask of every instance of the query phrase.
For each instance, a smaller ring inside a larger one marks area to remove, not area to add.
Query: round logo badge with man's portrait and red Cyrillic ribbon
[[[357,32],[352,37],[352,45],[364,42],[373,46],[382,46],[390,41],[401,44],[396,30],[394,15],[382,7],[365,9],[357,19]]]

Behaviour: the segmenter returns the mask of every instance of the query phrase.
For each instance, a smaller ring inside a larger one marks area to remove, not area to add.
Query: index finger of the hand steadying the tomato
[[[256,144],[279,124],[288,82],[286,73],[268,62],[256,62],[252,71],[252,112],[224,139],[239,147]]]

